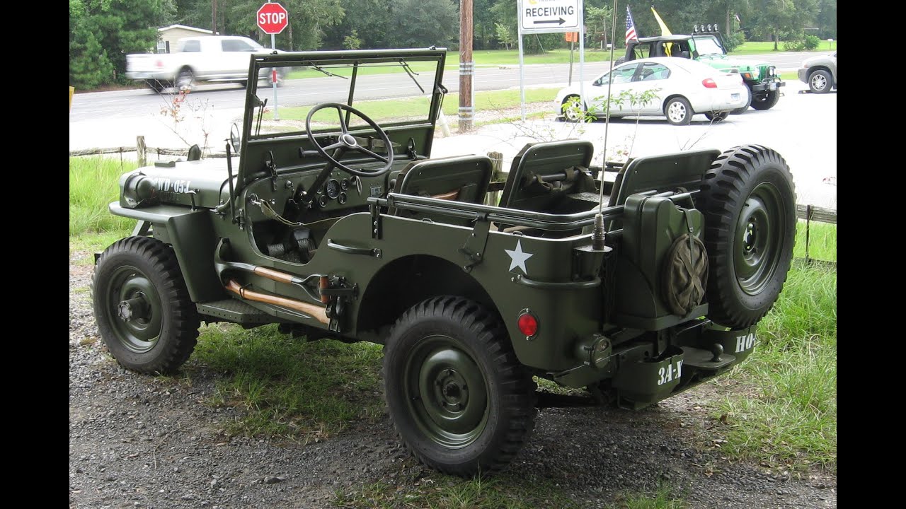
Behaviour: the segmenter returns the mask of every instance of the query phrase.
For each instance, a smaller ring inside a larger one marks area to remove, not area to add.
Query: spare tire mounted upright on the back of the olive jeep
[[[729,149],[702,178],[696,206],[705,215],[708,318],[731,329],[754,325],[776,302],[793,260],[789,167],[760,145]]]

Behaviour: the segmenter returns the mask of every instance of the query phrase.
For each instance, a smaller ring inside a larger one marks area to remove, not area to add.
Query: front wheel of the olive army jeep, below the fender
[[[132,236],[104,250],[92,301],[101,338],[124,368],[171,373],[195,349],[198,312],[173,249],[157,239]]]

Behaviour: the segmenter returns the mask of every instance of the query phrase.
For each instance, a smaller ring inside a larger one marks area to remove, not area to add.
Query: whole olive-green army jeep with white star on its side
[[[593,168],[592,143],[564,139],[527,144],[492,182],[484,155],[431,157],[446,54],[253,56],[251,77],[317,75],[279,89],[284,120],[250,79],[226,159],[120,178],[111,213],[138,223],[92,283],[113,357],[178,370],[202,322],[380,343],[402,442],[455,475],[516,456],[545,398],[534,377],[642,408],[745,360],[792,257],[784,158],[749,145]],[[370,91],[408,99],[388,112]]]

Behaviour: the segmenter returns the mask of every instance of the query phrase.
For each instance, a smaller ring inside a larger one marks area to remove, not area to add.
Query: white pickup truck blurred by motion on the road
[[[157,92],[167,87],[188,91],[198,82],[240,83],[245,87],[249,57],[273,51],[236,35],[187,37],[179,41],[176,53],[126,55],[126,77],[143,81]],[[271,72],[263,72],[261,79],[271,80]],[[278,85],[281,80],[282,76],[277,76]]]

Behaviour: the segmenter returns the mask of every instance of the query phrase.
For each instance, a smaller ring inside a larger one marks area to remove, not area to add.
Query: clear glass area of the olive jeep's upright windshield
[[[434,83],[443,69],[437,58],[412,55],[406,58],[358,59],[304,58],[304,53],[285,53],[255,61],[259,80],[249,91],[257,97],[251,139],[305,132],[308,113],[323,103],[341,103],[360,110],[382,127],[427,122]],[[278,86],[273,87],[276,72]],[[276,114],[275,114],[276,110]],[[351,130],[366,128],[356,115],[344,119]],[[337,126],[337,110],[314,113],[313,132]],[[247,129],[247,128],[246,128]]]

